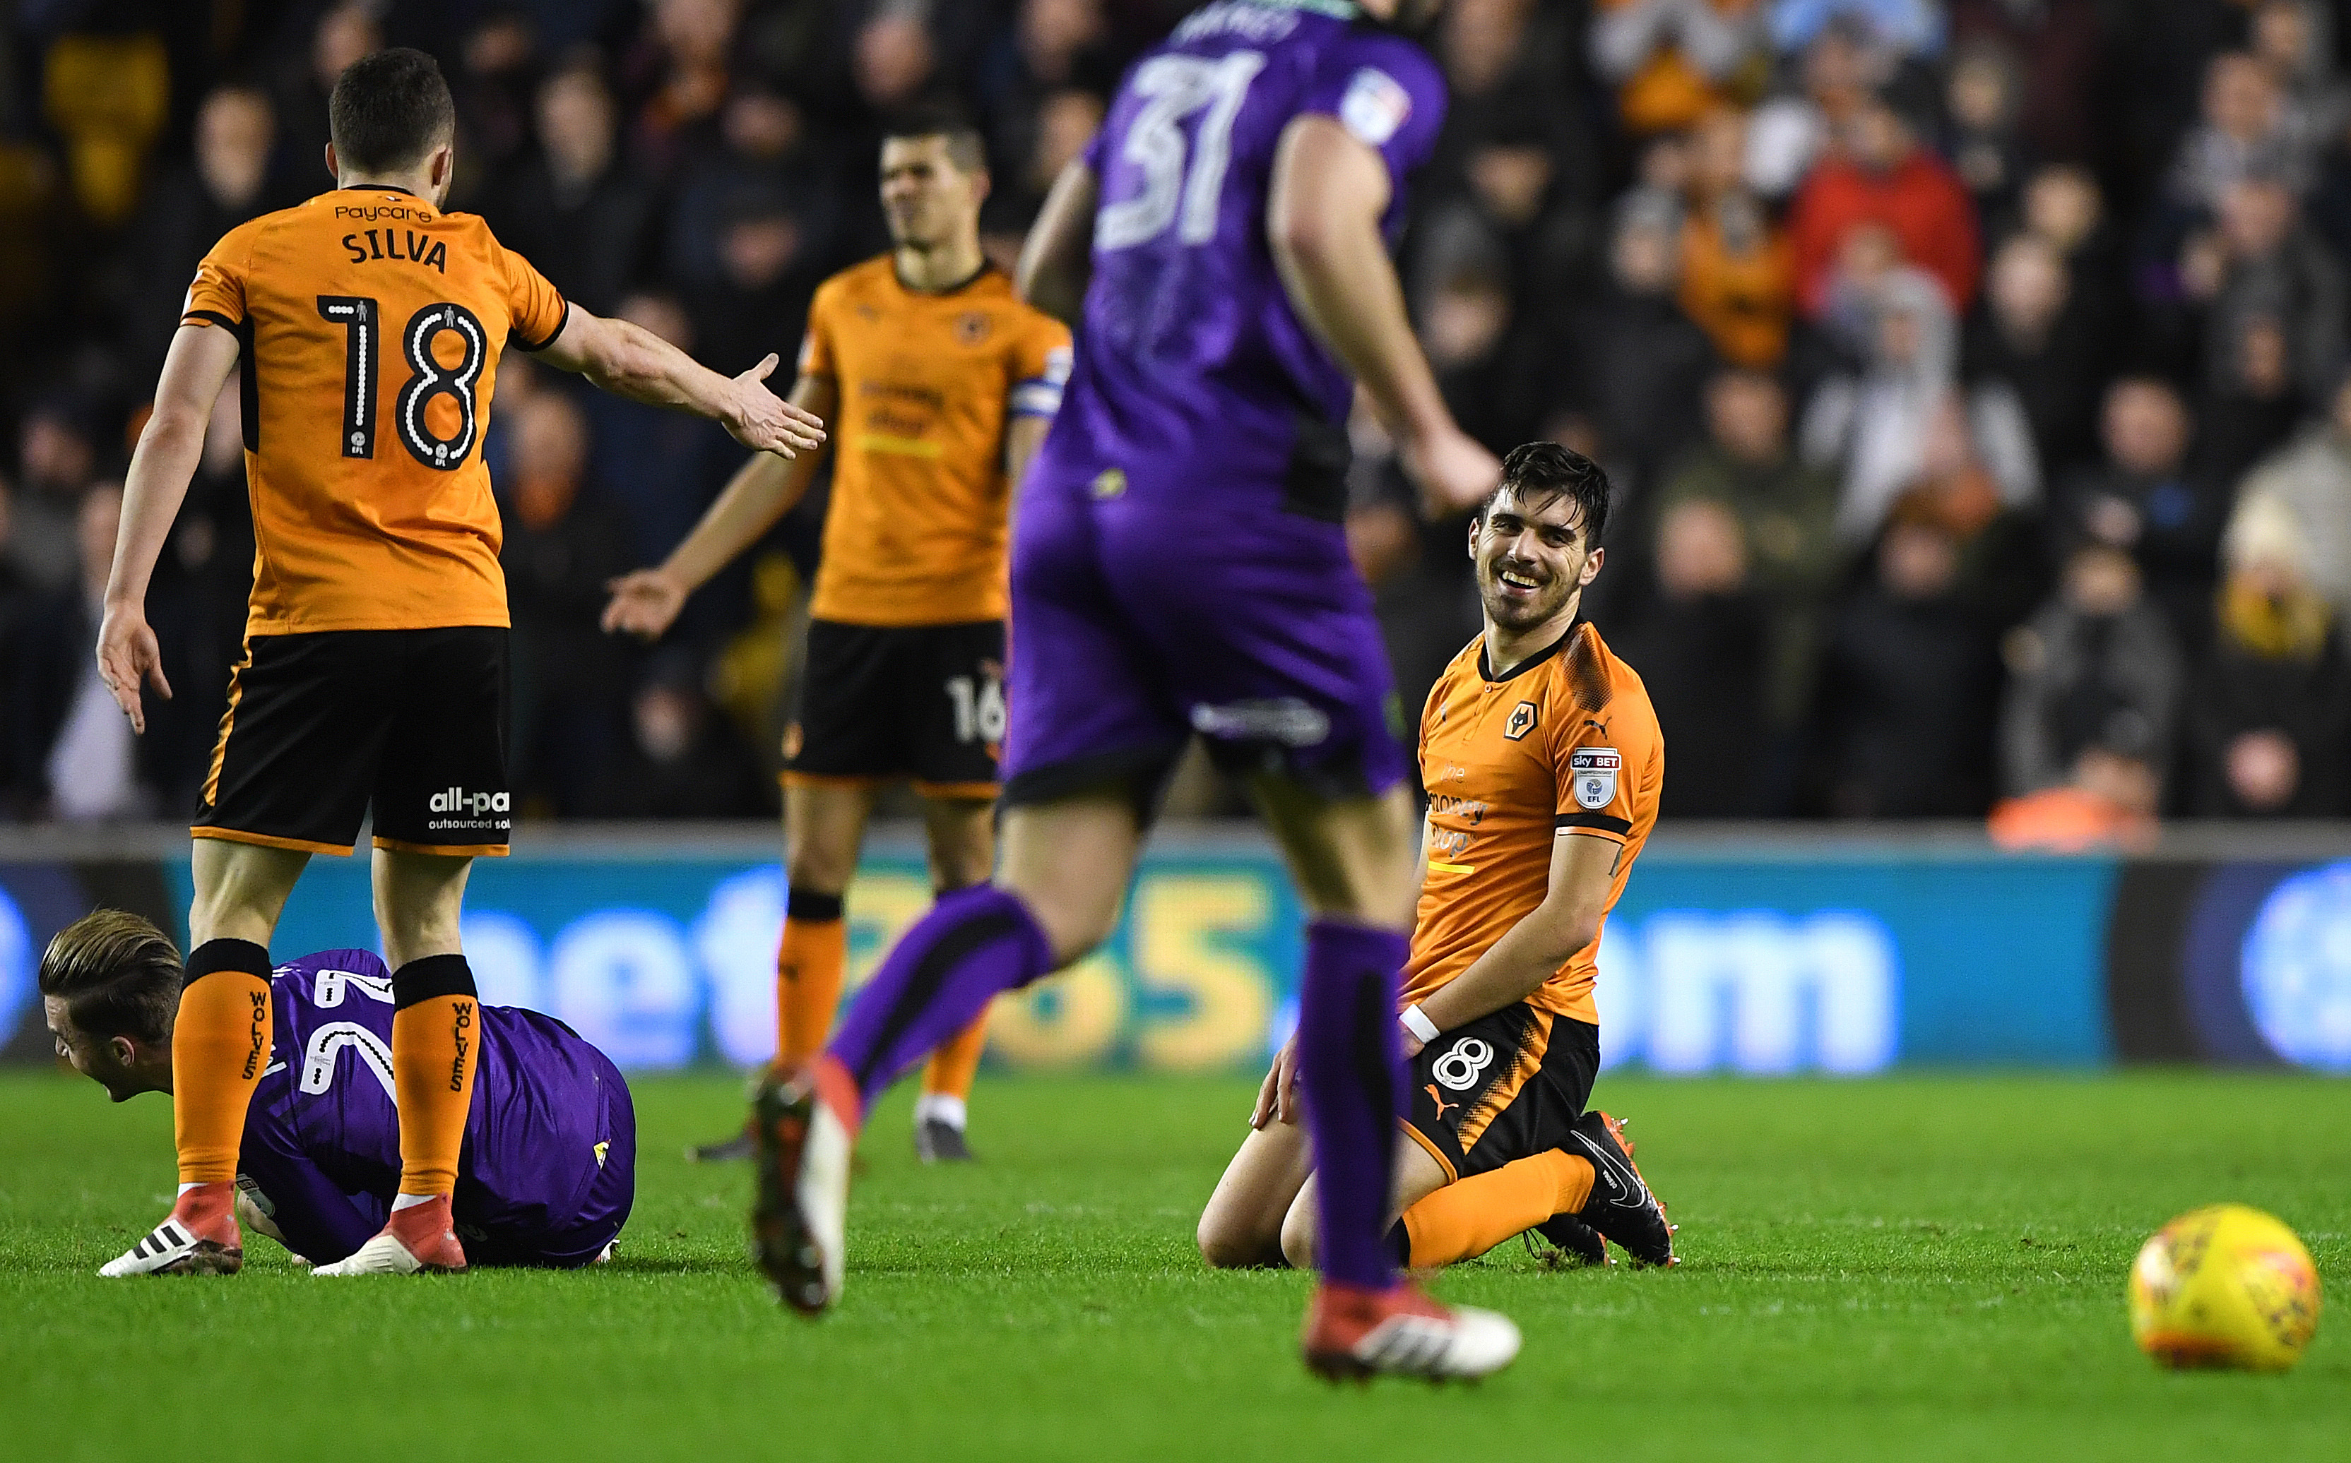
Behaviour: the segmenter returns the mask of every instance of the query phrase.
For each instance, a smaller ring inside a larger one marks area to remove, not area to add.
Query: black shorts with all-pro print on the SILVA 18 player
[[[505,629],[256,634],[195,808],[197,838],[505,852]]]

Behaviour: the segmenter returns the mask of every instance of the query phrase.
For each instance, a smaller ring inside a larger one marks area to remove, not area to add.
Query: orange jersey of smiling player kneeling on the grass
[[[1429,789],[1429,874],[1404,965],[1406,1003],[1460,977],[1542,904],[1561,834],[1622,845],[1608,885],[1615,909],[1657,827],[1665,737],[1641,676],[1589,622],[1507,676],[1488,674],[1479,636],[1429,693],[1420,777]],[[1596,1026],[1599,953],[1594,935],[1528,1005]]]

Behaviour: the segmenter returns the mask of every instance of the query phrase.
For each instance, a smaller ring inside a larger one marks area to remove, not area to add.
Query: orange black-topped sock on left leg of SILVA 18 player
[[[245,1108],[270,1064],[270,953],[252,939],[188,951],[172,1026],[172,1144],[181,1184],[235,1184]]]

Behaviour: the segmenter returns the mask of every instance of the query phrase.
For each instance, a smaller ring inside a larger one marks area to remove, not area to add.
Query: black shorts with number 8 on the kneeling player
[[[1439,1033],[1413,1057],[1406,1132],[1446,1181],[1568,1141],[1601,1071],[1601,1029],[1523,1000]]]

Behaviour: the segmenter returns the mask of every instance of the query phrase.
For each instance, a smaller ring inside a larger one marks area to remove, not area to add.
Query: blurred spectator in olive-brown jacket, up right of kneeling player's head
[[[1744,580],[1761,596],[1768,627],[1763,721],[1780,744],[1794,742],[1813,704],[1822,618],[1846,571],[1836,477],[1799,460],[1787,427],[1787,390],[1777,378],[1721,371],[1707,383],[1707,444],[1681,460],[1657,498],[1660,517],[1712,503],[1740,531]],[[1777,803],[1768,810],[1784,813]]]

